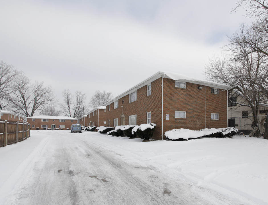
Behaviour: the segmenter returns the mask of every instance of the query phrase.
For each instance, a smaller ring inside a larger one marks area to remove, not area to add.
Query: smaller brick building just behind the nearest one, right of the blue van
[[[106,122],[106,106],[98,106],[89,111],[84,118],[79,119],[82,126],[107,126]]]

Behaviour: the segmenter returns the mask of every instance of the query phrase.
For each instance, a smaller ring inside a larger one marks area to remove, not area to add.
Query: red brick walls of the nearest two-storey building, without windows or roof
[[[153,138],[161,139],[161,78],[153,81],[151,85],[150,96],[147,96],[147,85],[145,85],[137,90],[136,101],[129,103],[129,95],[126,95],[118,100],[118,108],[114,109],[114,103],[111,103],[109,111],[107,105],[106,126],[108,120],[110,126],[114,126],[114,118],[118,118],[118,125],[121,125],[122,112],[126,116],[125,125],[128,124],[128,116],[135,114],[137,124],[140,125],[146,123],[147,112],[151,112],[151,122],[156,123]],[[227,91],[219,89],[219,94],[213,94],[210,92],[210,87],[203,86],[200,90],[197,88],[199,85],[193,83],[186,83],[186,89],[177,88],[175,81],[167,78],[163,79],[163,85],[163,134],[174,128],[200,130],[205,128],[205,124],[206,128],[227,127]],[[186,118],[175,118],[175,110],[185,111]],[[219,120],[211,120],[211,113],[219,114]],[[166,120],[166,114],[169,114],[169,120]]]

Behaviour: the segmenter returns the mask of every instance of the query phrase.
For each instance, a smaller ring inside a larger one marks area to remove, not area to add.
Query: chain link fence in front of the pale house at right
[[[261,136],[263,135],[267,127],[267,115],[256,116],[257,126],[253,125],[254,116],[244,116],[244,117],[232,117],[228,118],[228,126],[235,127],[240,132],[245,135],[254,135],[257,130],[260,130]]]

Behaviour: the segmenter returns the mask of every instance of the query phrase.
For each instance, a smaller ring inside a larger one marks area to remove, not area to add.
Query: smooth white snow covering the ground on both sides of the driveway
[[[53,138],[70,134],[64,130],[32,130],[24,142],[1,147],[0,204],[8,204],[6,200],[18,192],[44,147]],[[142,142],[88,131],[72,136],[120,156],[129,164],[154,167],[174,181],[183,179],[216,191],[234,204],[268,204],[268,140],[236,136]]]

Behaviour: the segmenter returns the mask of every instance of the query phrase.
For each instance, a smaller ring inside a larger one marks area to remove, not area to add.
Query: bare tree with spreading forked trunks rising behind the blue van
[[[68,89],[62,92],[62,96],[64,103],[60,103],[59,105],[63,114],[73,118],[80,118],[83,116],[83,108],[85,107],[86,99],[85,93],[75,91],[75,95],[72,95]]]

